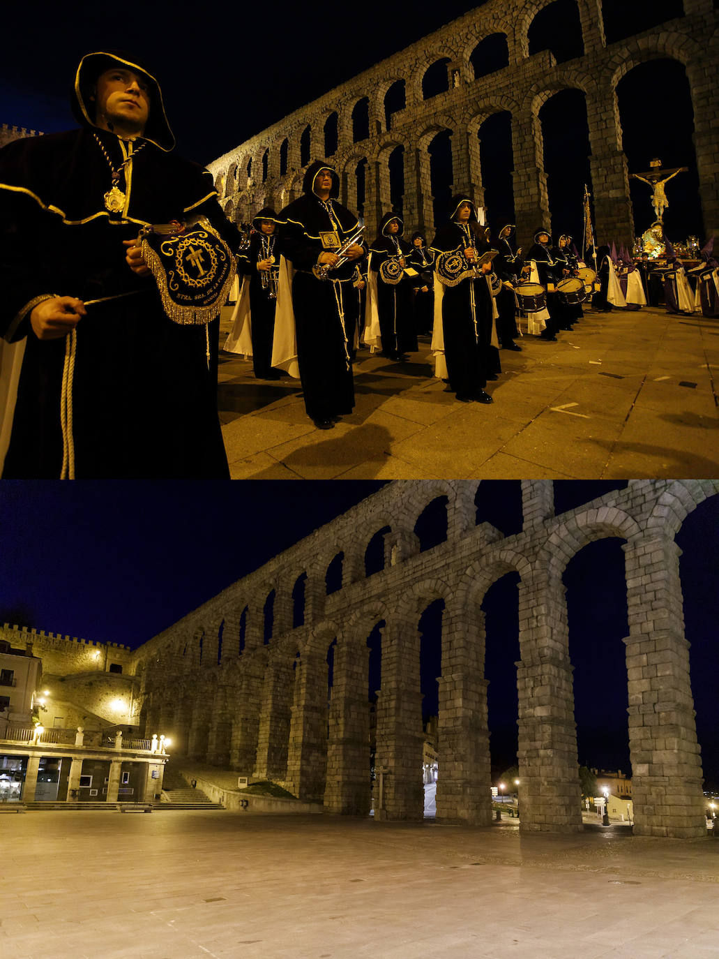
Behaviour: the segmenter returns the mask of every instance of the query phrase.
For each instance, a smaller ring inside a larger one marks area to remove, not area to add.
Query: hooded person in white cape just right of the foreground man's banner
[[[238,271],[244,274],[244,280],[224,349],[228,353],[251,356],[252,369],[258,380],[278,380],[282,374],[272,368],[272,334],[281,252],[277,214],[266,206],[254,217],[252,226],[254,231],[249,245],[240,251],[237,259]]]

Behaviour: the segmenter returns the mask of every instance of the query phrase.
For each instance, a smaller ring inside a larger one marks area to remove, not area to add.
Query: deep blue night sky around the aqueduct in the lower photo
[[[0,621],[89,640],[144,643],[278,551],[383,485],[328,482],[15,482],[0,484]],[[557,511],[617,483],[555,483]],[[485,481],[477,521],[507,535],[521,527],[518,481]],[[431,542],[438,523],[423,529]],[[419,530],[418,530],[419,531]],[[366,533],[367,531],[363,531]],[[719,497],[689,515],[678,536],[686,637],[707,785],[719,787]],[[628,635],[624,555],[616,539],[569,563],[569,655],[575,667],[579,760],[630,770],[626,733]],[[486,613],[489,718],[495,772],[517,748],[517,582],[503,576]],[[435,710],[441,609],[421,623],[425,712]]]

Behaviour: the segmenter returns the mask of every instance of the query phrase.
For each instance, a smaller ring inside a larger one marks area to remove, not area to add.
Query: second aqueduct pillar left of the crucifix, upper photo
[[[518,243],[526,250],[534,242],[534,230],[540,224],[549,228],[542,125],[539,117],[532,116],[529,110],[513,117],[512,148],[515,222],[518,230],[522,230]]]

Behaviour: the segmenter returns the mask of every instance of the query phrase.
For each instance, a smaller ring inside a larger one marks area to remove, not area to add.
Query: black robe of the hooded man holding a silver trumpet
[[[305,176],[313,182],[313,164]],[[355,232],[357,217],[332,199],[336,224],[312,192],[295,199],[280,214],[284,256],[296,270],[292,280],[292,309],[297,336],[297,362],[305,409],[313,420],[329,420],[350,413],[355,406],[351,353],[358,320],[355,267],[347,262],[333,270],[333,280],[318,280],[313,266],[323,252],[320,233],[337,229],[340,244]],[[338,228],[337,228],[338,227]]]

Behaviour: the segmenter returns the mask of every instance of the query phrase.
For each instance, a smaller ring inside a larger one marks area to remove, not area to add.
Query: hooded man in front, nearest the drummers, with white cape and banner
[[[484,386],[500,371],[494,298],[487,282],[496,250],[488,249],[480,230],[473,201],[454,197],[450,221],[437,230],[431,244],[436,256],[432,352],[437,376],[444,372],[444,358],[458,400],[486,404],[492,397]],[[452,256],[440,256],[443,253]],[[475,275],[462,278],[468,267]]]

